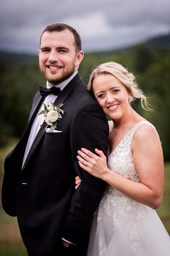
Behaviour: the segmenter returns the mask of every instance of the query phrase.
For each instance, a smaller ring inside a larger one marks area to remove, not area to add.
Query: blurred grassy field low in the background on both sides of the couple
[[[3,163],[11,148],[17,140],[11,140],[11,145],[0,149],[0,192],[3,180]],[[170,163],[164,165],[164,197],[161,207],[157,210],[161,221],[170,234]],[[1,197],[0,197],[1,198]],[[26,248],[22,242],[17,218],[8,216],[0,204],[0,256],[27,256]]]

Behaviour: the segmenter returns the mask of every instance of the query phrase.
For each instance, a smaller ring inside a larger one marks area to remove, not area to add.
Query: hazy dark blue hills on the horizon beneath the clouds
[[[130,49],[132,47],[136,47],[137,45],[147,45],[153,51],[164,51],[167,49],[170,49],[170,33],[167,35],[161,35],[157,36],[154,38],[151,38],[147,41],[144,41],[140,44],[135,44],[127,48],[121,48],[121,49],[116,49],[116,50],[107,50],[107,51],[100,51],[100,52],[86,52],[86,56],[88,54],[93,54],[96,57],[104,57],[104,56],[109,56],[113,54],[121,54],[122,52],[130,52]],[[0,60],[1,61],[7,61],[11,63],[18,63],[21,61],[37,61],[38,56],[37,55],[31,55],[31,54],[24,54],[24,53],[15,53],[15,52],[7,52],[0,50]]]

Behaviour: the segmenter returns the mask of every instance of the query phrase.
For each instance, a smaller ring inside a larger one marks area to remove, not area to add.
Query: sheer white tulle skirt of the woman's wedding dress
[[[155,210],[108,196],[94,216],[88,256],[170,256],[170,236]]]

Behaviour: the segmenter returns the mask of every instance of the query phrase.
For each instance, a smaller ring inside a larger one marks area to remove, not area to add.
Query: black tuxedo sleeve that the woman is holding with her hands
[[[91,225],[91,218],[105,190],[105,182],[83,170],[77,160],[77,151],[82,147],[94,152],[102,150],[107,156],[108,122],[98,103],[83,105],[74,115],[70,130],[71,151],[74,168],[81,185],[74,193],[65,220],[62,237],[78,244]]]

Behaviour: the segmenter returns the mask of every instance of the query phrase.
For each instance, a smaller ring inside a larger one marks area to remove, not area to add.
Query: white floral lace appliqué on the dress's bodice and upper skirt
[[[133,163],[133,154],[131,152],[132,138],[133,132],[128,133],[111,152],[110,156],[108,157],[108,168],[126,177],[127,179],[139,182],[140,179],[136,172]],[[128,219],[131,218],[131,211],[136,212],[136,221],[140,221],[141,219],[145,218],[143,205],[140,204],[141,207],[136,207],[137,204],[139,203],[128,198],[122,192],[107,184],[99,207],[102,207],[106,215],[111,216],[113,231],[116,232],[116,230],[119,229],[121,221],[124,221],[125,219],[128,221]],[[105,215],[100,216],[100,214],[98,214],[98,224],[102,218],[105,218]],[[137,228],[136,223],[130,230],[129,236],[131,240],[131,247],[135,255],[143,256],[143,253],[139,248],[139,240],[141,239],[141,234]],[[103,252],[105,251],[105,248],[102,248],[102,242],[100,243],[99,247],[101,249],[99,250],[100,255],[102,256]]]

